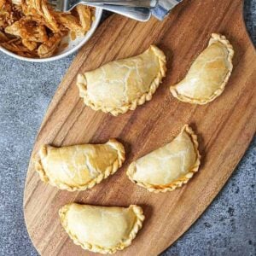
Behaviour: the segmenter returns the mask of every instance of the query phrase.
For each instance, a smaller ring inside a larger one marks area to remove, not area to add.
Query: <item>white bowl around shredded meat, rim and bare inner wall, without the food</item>
[[[21,61],[30,61],[30,62],[47,62],[47,61],[56,61],[60,60],[61,58],[66,57],[67,55],[73,54],[76,50],[78,50],[80,47],[82,47],[93,35],[93,33],[96,31],[97,26],[99,25],[99,22],[101,21],[102,18],[102,9],[96,8],[96,13],[95,13],[95,20],[92,22],[90,31],[87,32],[84,37],[79,37],[76,38],[75,40],[72,40],[69,36],[63,38],[61,40],[61,44],[67,44],[67,47],[64,49],[59,49],[59,51],[49,57],[49,58],[27,58],[27,57],[22,57],[20,55],[16,55],[15,53],[9,51],[8,49],[4,49],[3,47],[0,46],[0,50],[9,55],[14,57],[15,59],[21,60]]]

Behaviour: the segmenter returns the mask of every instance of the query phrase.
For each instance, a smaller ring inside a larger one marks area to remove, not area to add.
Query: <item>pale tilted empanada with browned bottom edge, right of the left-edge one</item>
[[[127,175],[150,192],[172,191],[188,183],[198,171],[200,159],[197,137],[189,125],[184,125],[171,143],[132,162]]]

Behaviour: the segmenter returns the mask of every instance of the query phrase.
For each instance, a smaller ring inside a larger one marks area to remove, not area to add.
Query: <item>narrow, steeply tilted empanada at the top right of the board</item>
[[[171,86],[172,95],[182,102],[207,104],[224,91],[233,69],[234,50],[221,35],[212,34],[207,49],[195,59],[186,77]]]

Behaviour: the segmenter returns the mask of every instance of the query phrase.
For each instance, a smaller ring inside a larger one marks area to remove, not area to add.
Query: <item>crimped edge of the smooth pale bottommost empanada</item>
[[[77,236],[73,235],[73,233],[71,232],[71,230],[68,228],[67,226],[67,219],[66,219],[66,213],[68,211],[68,208],[71,204],[67,204],[64,207],[61,207],[61,209],[59,210],[59,216],[61,218],[61,224],[64,228],[64,230],[66,230],[67,235],[73,240],[73,242],[76,245],[79,245],[80,247],[82,247],[84,250],[89,250],[91,252],[94,253],[102,253],[102,254],[113,254],[116,253],[118,250],[123,250],[125,247],[128,247],[131,245],[131,241],[137,236],[137,232],[139,230],[141,230],[141,228],[143,227],[143,220],[144,220],[144,215],[143,215],[143,208],[139,207],[137,205],[131,205],[130,207],[132,207],[133,212],[135,213],[137,220],[135,222],[135,224],[133,225],[130,235],[129,237],[125,240],[120,242],[116,247],[113,248],[107,248],[107,247],[100,247],[94,244],[90,244],[88,242],[86,243],[81,243],[78,239]],[[129,208],[130,208],[129,207]]]

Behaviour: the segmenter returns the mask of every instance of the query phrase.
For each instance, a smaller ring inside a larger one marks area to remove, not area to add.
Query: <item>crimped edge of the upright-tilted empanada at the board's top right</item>
[[[232,70],[233,70],[232,58],[234,56],[235,51],[233,49],[233,46],[230,44],[230,41],[224,35],[220,35],[218,33],[212,33],[212,38],[210,38],[208,46],[210,46],[211,44],[213,44],[215,42],[220,42],[220,43],[224,44],[226,49],[229,52],[228,62],[230,63],[230,67],[229,67],[229,72],[227,73],[223,83],[220,84],[218,90],[215,90],[213,92],[212,96],[210,96],[207,99],[199,100],[199,99],[193,99],[193,98],[190,98],[188,96],[183,96],[183,95],[179,94],[177,92],[177,86],[181,82],[178,82],[175,85],[171,85],[170,86],[170,90],[171,90],[172,96],[176,97],[179,101],[188,102],[188,103],[191,103],[191,104],[204,105],[204,104],[207,104],[209,102],[212,102],[213,100],[215,100],[218,96],[220,96],[223,93],[225,85],[228,83],[228,81],[230,79],[230,75],[231,75]]]

